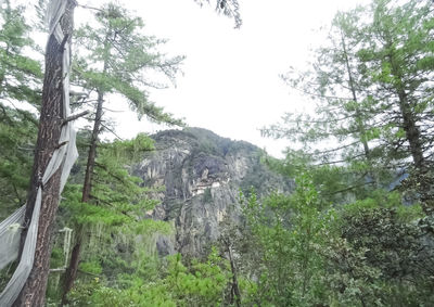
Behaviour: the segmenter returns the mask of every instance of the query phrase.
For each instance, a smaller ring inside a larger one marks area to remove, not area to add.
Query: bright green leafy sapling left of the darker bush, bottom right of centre
[[[316,253],[329,235],[333,212],[323,203],[311,178],[302,174],[291,196],[275,193],[259,203],[254,193],[244,214],[260,256],[255,270],[255,300],[276,306],[311,306],[324,299],[324,261]]]

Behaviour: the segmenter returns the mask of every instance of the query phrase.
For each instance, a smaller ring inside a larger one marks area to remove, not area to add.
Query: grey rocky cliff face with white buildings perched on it
[[[156,151],[133,167],[148,187],[164,186],[155,219],[171,221],[173,235],[157,238],[161,255],[203,255],[218,239],[225,217],[239,220],[238,196],[255,188],[259,195],[289,191],[291,183],[260,164],[260,150],[247,142],[220,138],[200,128],[167,130],[152,137]]]

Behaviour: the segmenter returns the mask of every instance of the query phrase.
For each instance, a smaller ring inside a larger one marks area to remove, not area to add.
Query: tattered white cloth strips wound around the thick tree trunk
[[[61,44],[64,34],[60,26],[62,15],[65,13],[68,0],[51,0],[48,7],[47,21],[50,36],[53,35]],[[69,108],[69,69],[71,69],[69,44],[66,42],[63,52],[62,73],[63,79],[63,114],[64,118],[71,114]],[[66,123],[62,127],[60,144],[53,153],[42,177],[42,184],[46,184],[53,174],[62,166],[61,192],[69,176],[71,168],[78,157],[76,148],[76,131],[73,124]],[[42,200],[42,190],[39,188],[34,206],[30,225],[28,226],[27,236],[24,243],[21,260],[8,285],[0,294],[0,306],[11,306],[22,291],[34,265],[36,239],[38,231],[39,213]],[[9,218],[0,223],[0,269],[15,260],[18,254],[21,229],[24,221],[25,206],[18,208]]]

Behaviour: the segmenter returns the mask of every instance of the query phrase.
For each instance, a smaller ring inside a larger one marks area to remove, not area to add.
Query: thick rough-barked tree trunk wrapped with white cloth
[[[67,0],[66,11],[61,20],[61,27],[66,39],[71,40],[73,31],[73,13],[75,0]],[[59,206],[61,168],[51,179],[41,186],[41,177],[59,140],[63,121],[63,78],[62,61],[64,44],[59,43],[54,36],[50,36],[46,51],[46,75],[43,79],[42,107],[38,140],[36,145],[34,169],[31,175],[30,191],[27,197],[25,223],[29,225],[38,188],[42,189],[42,203],[39,217],[37,245],[34,266],[30,274],[20,293],[14,306],[43,306],[46,298],[49,263],[51,254],[51,234],[53,221]],[[25,238],[26,231],[23,233]]]

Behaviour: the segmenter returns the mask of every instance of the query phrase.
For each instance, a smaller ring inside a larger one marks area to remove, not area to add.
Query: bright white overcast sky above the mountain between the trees
[[[100,1],[81,0],[95,5]],[[218,15],[210,5],[193,0],[119,0],[145,22],[145,33],[169,41],[164,52],[186,55],[177,87],[152,90],[151,99],[189,126],[252,142],[275,156],[288,141],[260,137],[259,128],[273,124],[284,112],[301,110],[308,101],[291,93],[279,74],[303,66],[309,49],[323,40],[337,10],[365,0],[239,0],[243,25]],[[80,11],[76,11],[76,16]],[[117,131],[132,138],[139,131],[156,132],[155,124],[139,123],[129,112],[116,113]]]

